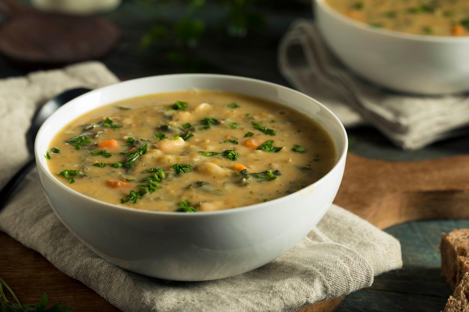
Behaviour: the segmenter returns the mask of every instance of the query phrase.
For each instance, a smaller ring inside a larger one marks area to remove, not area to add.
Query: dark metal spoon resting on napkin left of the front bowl
[[[13,195],[16,187],[24,180],[26,174],[36,165],[36,158],[34,157],[34,141],[38,134],[39,128],[45,120],[52,115],[63,104],[73,100],[79,95],[91,91],[87,88],[76,88],[67,90],[53,99],[47,101],[41,108],[38,109],[31,122],[31,127],[26,133],[26,144],[31,154],[30,160],[7,182],[7,184],[0,190],[0,210],[8,202],[8,199]]]

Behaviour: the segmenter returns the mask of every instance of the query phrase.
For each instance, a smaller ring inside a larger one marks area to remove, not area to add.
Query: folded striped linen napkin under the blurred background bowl
[[[466,95],[398,94],[350,73],[329,51],[313,22],[295,21],[279,46],[283,76],[329,107],[346,126],[370,123],[395,145],[414,150],[469,132]]]

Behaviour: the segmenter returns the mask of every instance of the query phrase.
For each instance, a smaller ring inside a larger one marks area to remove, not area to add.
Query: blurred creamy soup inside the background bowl
[[[371,27],[412,34],[469,36],[469,0],[326,0]]]

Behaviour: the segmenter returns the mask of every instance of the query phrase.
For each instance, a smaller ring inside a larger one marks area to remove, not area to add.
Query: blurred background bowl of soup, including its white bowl
[[[469,2],[315,0],[325,43],[358,76],[412,94],[469,91]]]

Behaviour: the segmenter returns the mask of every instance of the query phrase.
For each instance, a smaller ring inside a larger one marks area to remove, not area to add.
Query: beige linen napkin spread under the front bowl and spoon
[[[0,159],[8,160],[0,163],[0,185],[27,158],[23,136],[40,102],[69,87],[115,81],[94,62],[0,81],[0,133],[9,133],[0,145],[15,142],[21,153],[11,159],[10,148],[0,150]],[[370,286],[373,276],[402,265],[399,241],[333,205],[307,237],[261,268],[215,281],[163,281],[119,268],[78,241],[54,215],[35,171],[21,188],[0,211],[0,230],[123,311],[295,311]]]

